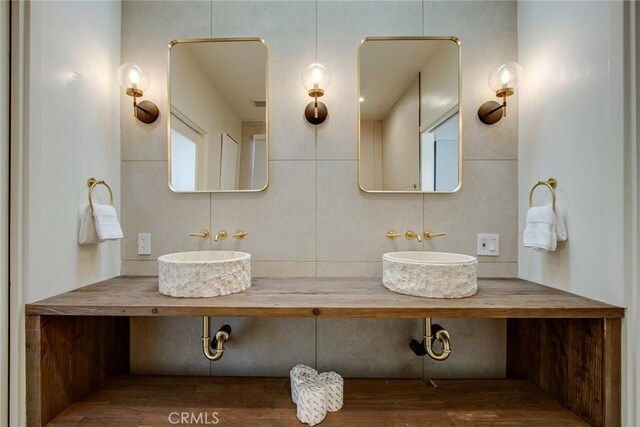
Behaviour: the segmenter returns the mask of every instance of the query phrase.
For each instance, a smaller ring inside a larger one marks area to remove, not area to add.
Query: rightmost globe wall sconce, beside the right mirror
[[[489,74],[489,87],[502,98],[502,105],[496,101],[487,101],[478,108],[478,118],[486,125],[497,123],[507,117],[507,96],[516,92],[522,81],[522,67],[516,62],[507,62],[496,67]]]

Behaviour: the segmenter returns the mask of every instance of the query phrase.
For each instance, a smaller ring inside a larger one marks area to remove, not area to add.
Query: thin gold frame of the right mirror
[[[458,186],[450,191],[407,191],[407,190],[399,190],[399,191],[391,191],[391,190],[366,190],[362,187],[362,183],[360,182],[360,49],[362,49],[362,45],[366,42],[376,42],[376,41],[419,41],[419,40],[442,40],[442,41],[452,41],[458,45]],[[356,94],[356,106],[358,114],[356,115],[356,124],[358,126],[357,138],[358,138],[358,166],[357,166],[357,174],[358,174],[358,187],[360,191],[365,193],[378,193],[378,194],[451,194],[455,193],[462,188],[462,41],[457,37],[453,36],[398,36],[398,37],[365,37],[360,42],[358,46],[358,58],[357,58],[357,76],[356,76],[356,84],[358,85],[358,93]]]

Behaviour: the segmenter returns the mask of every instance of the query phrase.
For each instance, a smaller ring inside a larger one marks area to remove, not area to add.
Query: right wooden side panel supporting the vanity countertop
[[[621,425],[620,319],[509,319],[507,377],[526,379],[594,427]]]

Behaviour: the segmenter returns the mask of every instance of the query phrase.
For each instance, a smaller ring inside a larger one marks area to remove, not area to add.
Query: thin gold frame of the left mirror
[[[171,185],[171,48],[177,44],[186,43],[227,43],[227,42],[260,42],[264,45],[265,49],[265,98],[267,105],[265,107],[265,150],[266,150],[266,171],[267,179],[264,187],[258,189],[249,190],[193,190],[193,191],[178,191]],[[169,42],[167,46],[167,184],[171,191],[178,194],[193,194],[193,193],[259,193],[266,190],[269,187],[269,48],[267,43],[261,37],[230,37],[230,38],[205,38],[205,39],[176,39]]]

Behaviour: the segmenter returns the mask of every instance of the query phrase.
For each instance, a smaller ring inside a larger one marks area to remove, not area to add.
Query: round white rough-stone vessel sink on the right
[[[475,295],[478,260],[445,252],[390,252],[382,256],[382,283],[401,294],[427,298]]]

